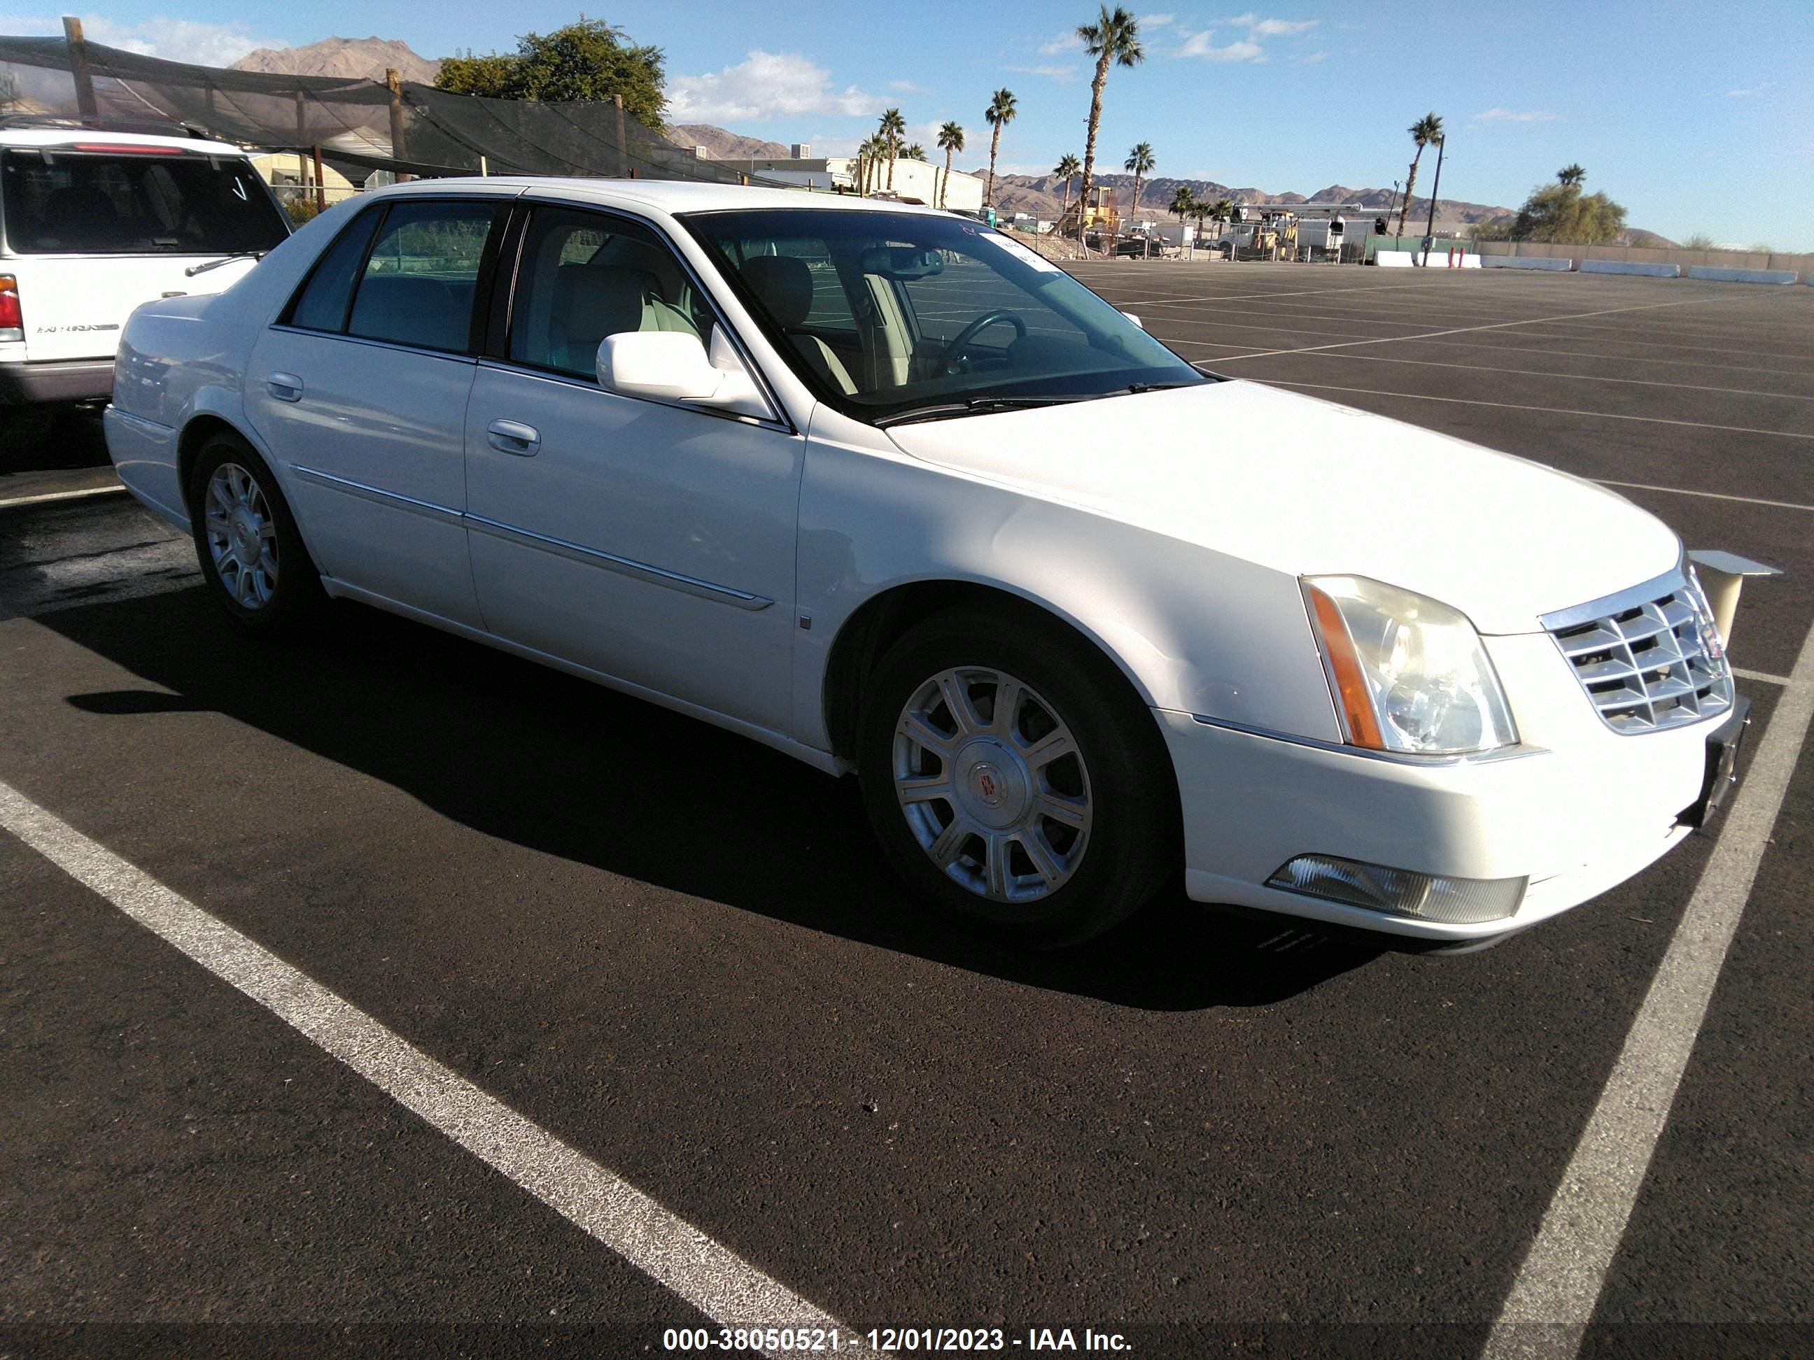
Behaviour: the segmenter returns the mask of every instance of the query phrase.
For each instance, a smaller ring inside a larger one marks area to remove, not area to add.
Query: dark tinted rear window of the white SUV
[[[0,221],[16,256],[270,250],[288,221],[238,158],[0,152]]]

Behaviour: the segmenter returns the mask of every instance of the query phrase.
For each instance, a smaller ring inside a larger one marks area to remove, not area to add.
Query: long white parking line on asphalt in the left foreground
[[[824,1309],[5,782],[0,827],[713,1320],[838,1327],[840,1340],[854,1340]]]

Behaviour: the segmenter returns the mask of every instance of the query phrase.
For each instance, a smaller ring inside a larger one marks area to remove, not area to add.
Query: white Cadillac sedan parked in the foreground
[[[1204,375],[925,209],[399,185],[138,308],[112,403],[249,629],[365,600],[856,771],[1029,945],[1179,883],[1504,936],[1687,836],[1743,725],[1651,515]]]

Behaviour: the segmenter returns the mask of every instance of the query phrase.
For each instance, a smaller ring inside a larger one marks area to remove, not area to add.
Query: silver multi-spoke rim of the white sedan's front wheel
[[[914,840],[990,901],[1036,901],[1078,872],[1090,772],[1058,711],[1025,684],[958,665],[922,684],[894,724],[894,794]]]

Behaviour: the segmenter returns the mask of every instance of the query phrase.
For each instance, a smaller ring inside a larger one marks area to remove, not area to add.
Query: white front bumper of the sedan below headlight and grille
[[[1493,642],[1502,675],[1544,671],[1556,655],[1547,638],[1535,640],[1540,647]],[[1518,646],[1524,656],[1511,655]],[[1555,705],[1518,713],[1529,745],[1446,763],[1357,754],[1156,709],[1185,812],[1185,890],[1197,901],[1468,941],[1524,930],[1616,887],[1692,831],[1680,818],[1702,798],[1707,736],[1720,722],[1620,736],[1602,727],[1571,675],[1549,675],[1565,682],[1546,687]],[[1511,916],[1453,925],[1266,887],[1304,854],[1529,883]]]

